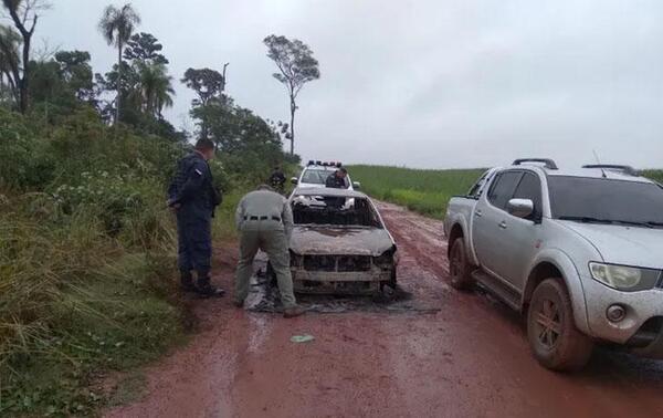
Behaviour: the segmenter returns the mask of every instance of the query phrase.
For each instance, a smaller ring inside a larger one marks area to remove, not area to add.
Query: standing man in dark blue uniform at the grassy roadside
[[[211,221],[221,194],[214,189],[208,160],[214,156],[214,143],[200,139],[196,149],[182,158],[168,188],[168,206],[177,215],[178,268],[181,288],[204,296],[225,292],[210,284],[212,258]],[[198,283],[193,284],[191,271]]]

